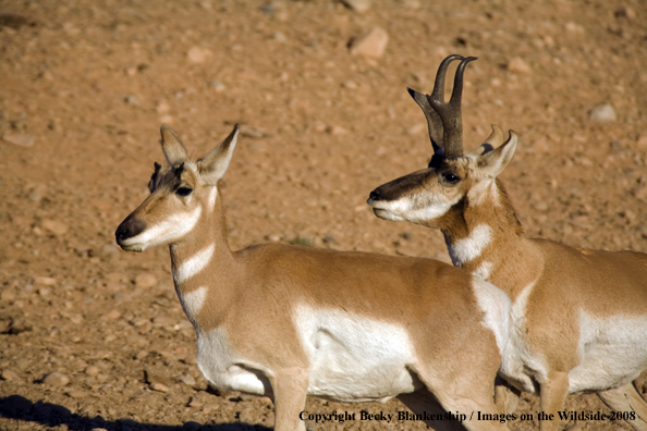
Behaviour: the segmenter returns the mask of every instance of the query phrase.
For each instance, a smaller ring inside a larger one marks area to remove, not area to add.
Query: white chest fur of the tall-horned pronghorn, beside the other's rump
[[[506,355],[502,357],[501,375],[521,391],[535,393],[533,380],[546,381],[548,368],[526,341],[526,309],[535,282],[528,284],[512,304]]]

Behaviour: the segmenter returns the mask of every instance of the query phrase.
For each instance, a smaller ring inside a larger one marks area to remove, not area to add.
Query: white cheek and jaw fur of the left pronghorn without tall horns
[[[188,214],[170,216],[157,224],[147,226],[141,234],[123,241],[121,245],[122,247],[136,247],[144,251],[156,245],[172,243],[193,231],[202,212],[203,208],[198,206]]]

